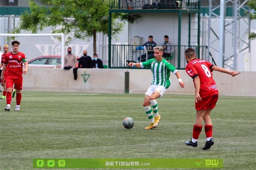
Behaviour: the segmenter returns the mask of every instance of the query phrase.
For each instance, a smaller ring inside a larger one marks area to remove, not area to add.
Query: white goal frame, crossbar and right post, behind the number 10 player
[[[35,37],[44,37],[44,36],[61,36],[61,68],[64,68],[64,48],[65,48],[65,40],[64,40],[64,33],[31,33],[31,34],[25,34],[25,33],[0,33],[1,36],[6,37],[29,37],[29,36],[35,36]]]

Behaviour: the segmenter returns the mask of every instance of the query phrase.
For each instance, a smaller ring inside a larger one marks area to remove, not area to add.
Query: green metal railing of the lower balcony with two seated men
[[[206,60],[207,57],[207,46],[167,46],[171,47],[171,57],[164,57],[169,63],[174,65],[177,69],[185,69],[187,62],[184,57],[184,52],[187,48],[191,47],[196,50],[197,58]],[[180,56],[178,56],[178,51],[180,49]],[[199,51],[200,50],[200,51]],[[147,50],[145,47],[141,47],[141,45],[111,45],[111,57],[110,59],[110,67],[109,68],[128,68],[127,62],[134,61],[136,63],[141,62],[141,55],[148,54],[153,51]],[[139,58],[139,60],[138,60]],[[146,60],[145,60],[146,61]],[[212,62],[212,61],[210,61]]]

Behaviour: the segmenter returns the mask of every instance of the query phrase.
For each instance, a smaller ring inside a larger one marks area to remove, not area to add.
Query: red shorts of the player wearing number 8
[[[195,104],[196,110],[207,110],[214,108],[218,101],[218,98],[219,94],[214,94],[213,96],[202,98],[201,101],[197,101],[197,103]]]

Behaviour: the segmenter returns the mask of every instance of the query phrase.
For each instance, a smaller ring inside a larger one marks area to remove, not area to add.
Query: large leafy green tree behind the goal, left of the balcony
[[[37,33],[51,26],[52,33],[65,33],[68,36],[66,44],[72,39],[93,38],[93,53],[96,53],[96,33],[108,35],[108,0],[29,0],[29,11],[20,16],[20,30]],[[112,35],[123,29],[122,13],[112,15]],[[119,22],[118,22],[119,21]],[[61,29],[56,29],[62,26]]]

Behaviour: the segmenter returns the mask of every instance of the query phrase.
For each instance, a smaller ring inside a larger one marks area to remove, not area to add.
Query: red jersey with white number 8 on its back
[[[186,66],[186,72],[191,78],[194,79],[196,76],[199,76],[199,94],[202,98],[219,94],[216,83],[212,78],[212,66],[214,66],[212,63],[200,59],[193,59]]]

